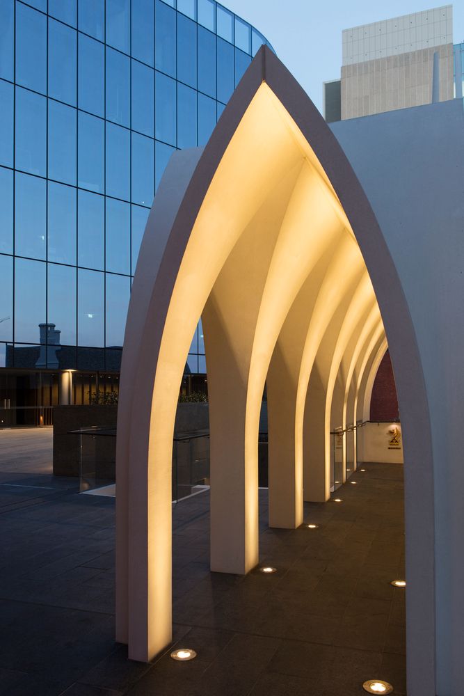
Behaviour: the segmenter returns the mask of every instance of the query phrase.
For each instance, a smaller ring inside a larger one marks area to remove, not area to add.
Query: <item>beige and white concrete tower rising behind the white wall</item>
[[[342,43],[341,79],[323,86],[328,122],[455,96],[451,5],[345,29]]]

